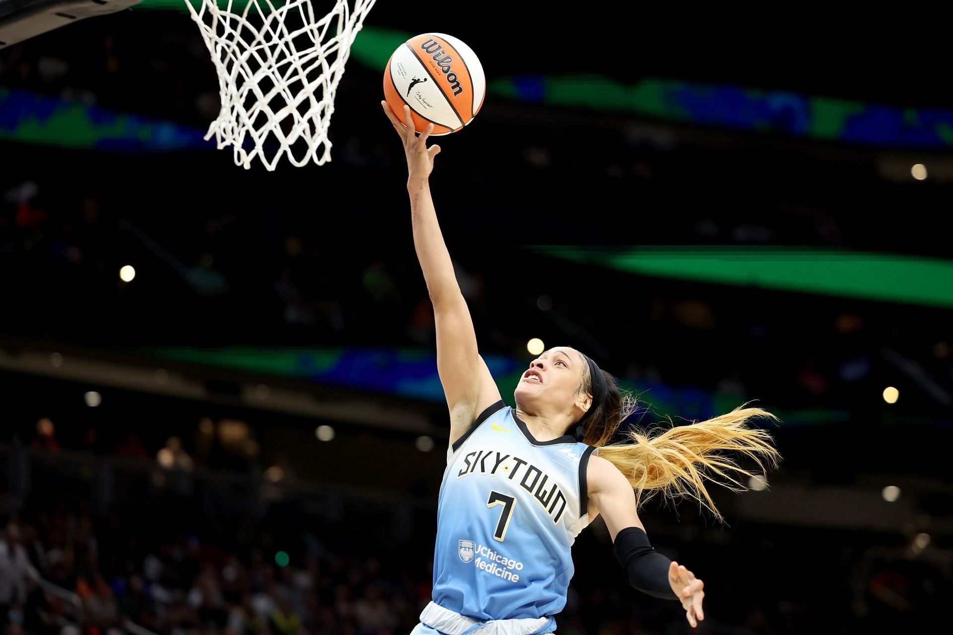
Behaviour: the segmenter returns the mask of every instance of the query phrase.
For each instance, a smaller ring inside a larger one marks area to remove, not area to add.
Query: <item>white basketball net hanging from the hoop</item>
[[[218,73],[222,109],[205,138],[231,145],[235,165],[250,169],[257,157],[274,170],[283,154],[298,168],[331,160],[335,89],[375,3],[354,0],[352,11],[349,0],[334,1],[315,17],[311,0],[247,0],[244,9],[228,0],[224,10],[193,0],[197,11],[185,0]]]

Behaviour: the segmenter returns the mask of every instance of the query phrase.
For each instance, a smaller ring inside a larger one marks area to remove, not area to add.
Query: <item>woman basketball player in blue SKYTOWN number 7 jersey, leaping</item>
[[[605,446],[634,400],[581,351],[553,347],[519,381],[516,407],[504,405],[480,357],[469,309],[443,242],[428,178],[439,146],[426,146],[381,102],[403,141],[414,244],[436,317],[436,364],[450,407],[450,447],[437,512],[433,601],[414,635],[537,635],[556,629],[573,576],[570,547],[599,514],[629,581],[678,600],[692,626],[704,619],[703,585],[656,552],[638,508],[643,491],[688,493],[720,518],[703,468],[742,488],[749,474],[717,452],[740,450],[763,470],[778,454],[760,429],[744,426],[760,408],[736,409],[654,438]]]

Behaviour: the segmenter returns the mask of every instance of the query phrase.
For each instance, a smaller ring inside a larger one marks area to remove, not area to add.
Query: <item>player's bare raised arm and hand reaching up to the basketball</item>
[[[450,443],[453,444],[484,408],[499,401],[499,390],[479,356],[470,309],[456,283],[450,252],[436,220],[429,179],[440,147],[427,148],[427,137],[434,125],[416,136],[409,107],[404,106],[404,123],[401,123],[387,102],[382,101],[381,106],[400,135],[407,155],[407,192],[411,198],[414,247],[434,305],[436,368],[450,408]]]

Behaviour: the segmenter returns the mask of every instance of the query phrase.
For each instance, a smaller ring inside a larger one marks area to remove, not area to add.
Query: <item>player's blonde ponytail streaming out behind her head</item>
[[[743,469],[722,451],[737,451],[754,460],[761,474],[767,467],[777,467],[781,459],[767,431],[745,426],[759,417],[773,421],[778,418],[760,407],[744,406],[708,421],[670,427],[651,436],[633,428],[627,432],[629,443],[601,446],[598,455],[629,479],[636,490],[637,505],[658,492],[669,498],[687,496],[698,500],[722,521],[704,482],[743,491],[747,486],[740,477],[758,475]]]

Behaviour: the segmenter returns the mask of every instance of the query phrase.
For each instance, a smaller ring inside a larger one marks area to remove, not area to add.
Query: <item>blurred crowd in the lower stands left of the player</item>
[[[242,549],[240,559],[194,534],[149,543],[111,520],[94,530],[88,515],[48,508],[35,524],[8,524],[0,543],[0,554],[12,556],[0,560],[5,632],[115,633],[128,621],[182,634],[410,632],[429,592],[412,571],[384,577],[375,558],[357,553],[277,566],[261,548]],[[41,574],[79,604],[39,585]]]

